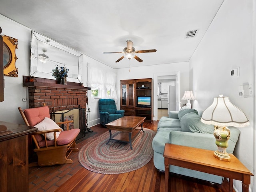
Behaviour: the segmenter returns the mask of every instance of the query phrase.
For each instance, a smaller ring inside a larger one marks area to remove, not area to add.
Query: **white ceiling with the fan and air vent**
[[[223,1],[1,0],[0,14],[116,69],[188,61]],[[102,54],[121,52],[126,40],[157,52],[137,54],[141,63]]]

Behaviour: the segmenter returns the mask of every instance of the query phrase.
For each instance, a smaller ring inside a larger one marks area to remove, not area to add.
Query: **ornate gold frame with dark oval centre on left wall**
[[[18,68],[15,62],[18,59],[15,49],[18,49],[18,40],[10,36],[2,36],[4,42],[4,76],[18,77]]]

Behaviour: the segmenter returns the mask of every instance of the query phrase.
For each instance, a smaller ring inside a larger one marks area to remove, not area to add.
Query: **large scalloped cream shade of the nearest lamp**
[[[201,121],[220,127],[245,127],[250,124],[244,112],[222,95],[214,98],[212,105],[203,112]]]

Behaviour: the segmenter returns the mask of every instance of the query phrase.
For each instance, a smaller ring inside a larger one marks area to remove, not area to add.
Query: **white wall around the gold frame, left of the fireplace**
[[[22,75],[28,76],[30,71],[31,30],[0,15],[1,35],[18,39],[16,49],[16,68],[18,78],[4,76],[4,101],[0,102],[0,120],[24,124],[18,107],[26,108],[26,88],[22,86]]]

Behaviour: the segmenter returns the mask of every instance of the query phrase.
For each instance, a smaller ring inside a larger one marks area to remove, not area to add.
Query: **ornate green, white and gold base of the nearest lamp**
[[[230,156],[226,152],[228,147],[228,140],[230,137],[230,129],[226,127],[214,126],[214,137],[216,138],[216,145],[218,150],[213,153],[213,156],[222,161],[230,161]]]

